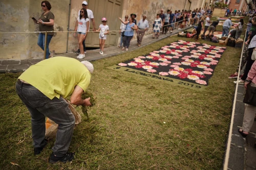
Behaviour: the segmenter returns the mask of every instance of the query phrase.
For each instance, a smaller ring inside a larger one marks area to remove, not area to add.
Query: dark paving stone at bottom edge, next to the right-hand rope
[[[228,168],[234,170],[243,170],[243,148],[239,148],[234,145],[230,145]]]

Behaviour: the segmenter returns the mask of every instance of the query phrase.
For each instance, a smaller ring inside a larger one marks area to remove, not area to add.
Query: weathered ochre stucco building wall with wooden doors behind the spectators
[[[55,15],[55,31],[73,31],[78,11],[82,8],[82,0],[49,0],[52,6],[52,13]],[[150,28],[156,14],[163,8],[182,10],[195,9],[205,5],[207,0],[88,0],[88,9],[94,14],[96,29],[101,24],[101,18],[106,17],[110,31],[119,30],[120,20],[125,15],[135,13],[137,22],[142,15],[147,15]],[[38,19],[43,11],[41,1],[34,0],[2,0],[0,2],[0,32],[34,32],[39,31],[37,24],[34,24],[31,17]],[[92,31],[92,23],[90,31]],[[149,29],[146,34],[152,33]],[[110,32],[107,36],[105,46],[117,46],[119,33]],[[136,33],[134,34],[134,37]],[[99,46],[99,33],[89,32],[86,38],[87,47]],[[26,59],[43,58],[43,51],[37,45],[38,33],[8,33],[0,34],[0,59]],[[51,39],[49,49],[55,54],[72,52],[78,48],[77,38],[73,33],[56,32]]]

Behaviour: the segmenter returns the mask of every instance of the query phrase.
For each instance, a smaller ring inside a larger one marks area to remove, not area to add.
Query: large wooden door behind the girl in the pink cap
[[[96,29],[102,23],[101,18],[105,17],[109,31],[119,30],[121,22],[118,17],[122,14],[122,0],[88,0],[88,9],[93,11]],[[90,23],[90,31],[92,29],[93,25]],[[119,32],[109,32],[105,47],[117,45],[118,36]],[[99,47],[99,33],[88,33],[85,43],[87,47]]]

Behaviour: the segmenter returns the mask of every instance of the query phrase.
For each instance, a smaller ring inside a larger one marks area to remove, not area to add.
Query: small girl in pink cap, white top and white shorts
[[[99,34],[99,44],[100,44],[100,54],[103,55],[103,49],[104,49],[104,43],[105,40],[107,39],[107,34],[109,33],[109,26],[106,25],[107,19],[103,17],[101,19],[102,24],[100,25],[99,29],[96,31],[100,31]]]

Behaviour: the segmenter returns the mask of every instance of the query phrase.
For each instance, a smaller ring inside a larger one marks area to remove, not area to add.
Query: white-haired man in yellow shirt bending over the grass
[[[45,147],[45,116],[58,124],[56,142],[49,162],[67,162],[74,158],[68,152],[75,118],[64,100],[70,96],[74,105],[89,106],[90,98],[81,94],[89,86],[93,65],[69,57],[53,57],[30,66],[16,82],[16,93],[31,116],[34,153]]]

